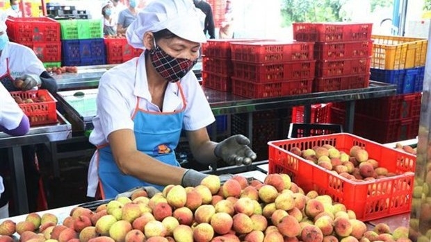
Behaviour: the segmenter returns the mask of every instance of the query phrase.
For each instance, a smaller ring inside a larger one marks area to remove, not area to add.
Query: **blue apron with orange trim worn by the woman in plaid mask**
[[[149,112],[141,110],[138,108],[138,98],[136,110],[132,116],[134,122],[133,132],[136,137],[138,150],[172,166],[179,166],[174,149],[177,148],[181,135],[184,110],[186,108],[183,90],[179,83],[177,85],[183,100],[181,110],[175,110],[174,112]],[[99,164],[97,170],[99,184],[101,184],[102,198],[114,198],[118,193],[140,186],[152,186],[159,191],[163,190],[163,186],[144,182],[131,175],[122,174],[113,159],[111,146],[107,145],[98,148],[98,152]]]

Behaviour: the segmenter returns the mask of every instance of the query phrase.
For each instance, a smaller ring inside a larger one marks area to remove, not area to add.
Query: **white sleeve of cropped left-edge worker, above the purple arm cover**
[[[0,124],[8,130],[13,130],[21,123],[24,112],[10,96],[8,90],[0,84]],[[0,176],[0,194],[3,193],[3,178]]]

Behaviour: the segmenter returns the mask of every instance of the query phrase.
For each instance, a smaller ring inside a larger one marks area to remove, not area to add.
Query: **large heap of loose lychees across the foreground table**
[[[138,189],[95,211],[74,207],[60,223],[55,214],[41,214],[6,219],[0,241],[409,241],[406,227],[367,231],[354,211],[316,191],[306,194],[278,173],[264,182],[235,175],[224,184],[209,175],[197,187],[168,185],[151,198]]]

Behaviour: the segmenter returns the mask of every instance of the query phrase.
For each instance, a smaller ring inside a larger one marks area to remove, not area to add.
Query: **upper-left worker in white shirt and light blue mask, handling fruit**
[[[33,88],[47,89],[51,94],[57,91],[54,78],[45,71],[43,63],[27,46],[9,42],[6,33],[6,12],[0,11],[0,83],[8,92],[26,91]],[[29,210],[35,211],[39,191],[40,174],[35,164],[35,146],[22,146],[24,171],[26,173]],[[0,149],[0,160],[7,160],[6,149]],[[0,166],[1,170],[7,169]]]

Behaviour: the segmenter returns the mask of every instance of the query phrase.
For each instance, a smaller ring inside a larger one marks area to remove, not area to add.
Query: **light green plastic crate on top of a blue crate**
[[[97,39],[103,37],[101,19],[58,20],[61,26],[61,40]]]

